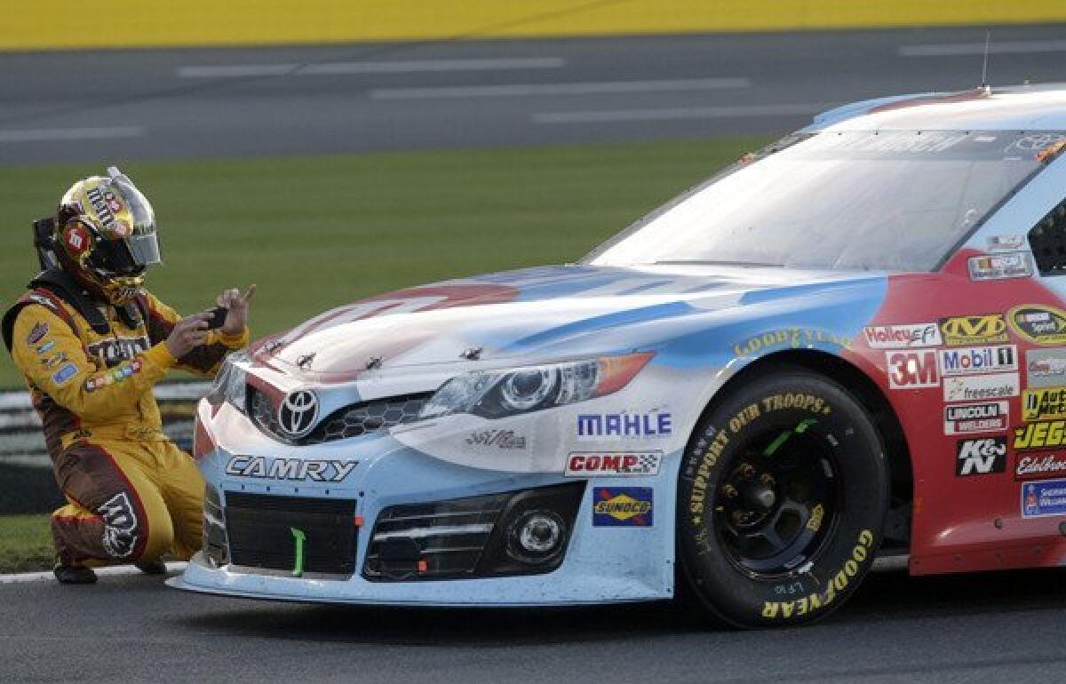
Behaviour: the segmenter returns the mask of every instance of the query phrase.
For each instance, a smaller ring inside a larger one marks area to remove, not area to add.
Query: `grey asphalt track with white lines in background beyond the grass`
[[[982,28],[0,53],[0,164],[779,133],[981,81]],[[1066,81],[1066,27],[989,81]]]

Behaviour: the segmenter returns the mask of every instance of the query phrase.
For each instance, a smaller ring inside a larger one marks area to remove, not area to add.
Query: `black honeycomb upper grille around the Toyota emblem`
[[[298,446],[361,437],[379,429],[414,423],[418,420],[422,406],[433,396],[433,392],[422,392],[352,404],[325,418],[310,434],[292,440],[281,433],[270,398],[253,388],[248,388],[248,392],[252,419],[259,429],[274,439]]]

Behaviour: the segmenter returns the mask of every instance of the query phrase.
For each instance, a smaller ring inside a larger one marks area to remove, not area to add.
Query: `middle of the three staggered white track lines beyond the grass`
[[[422,100],[530,95],[596,95],[601,93],[664,93],[752,87],[745,78],[671,79],[662,81],[599,81],[587,83],[513,83],[442,87],[392,87],[370,91],[375,100]]]

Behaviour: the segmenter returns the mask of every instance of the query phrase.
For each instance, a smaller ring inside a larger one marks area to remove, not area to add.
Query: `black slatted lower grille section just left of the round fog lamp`
[[[367,550],[368,580],[470,576],[511,494],[392,506],[378,516]]]

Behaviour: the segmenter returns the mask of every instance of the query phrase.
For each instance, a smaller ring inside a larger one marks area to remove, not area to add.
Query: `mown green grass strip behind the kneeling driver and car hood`
[[[259,286],[253,336],[394,288],[572,261],[760,137],[122,164],[156,208],[179,311]],[[36,272],[30,224],[106,164],[0,167],[0,299]],[[6,304],[5,304],[6,306]],[[21,386],[6,354],[0,388]]]

